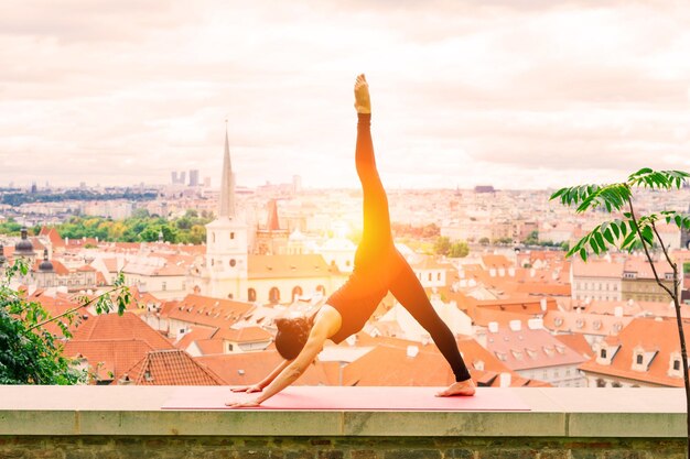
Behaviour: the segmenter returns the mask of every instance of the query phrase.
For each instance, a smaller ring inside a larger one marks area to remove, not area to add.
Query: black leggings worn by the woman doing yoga
[[[370,114],[359,114],[355,162],[364,193],[364,231],[355,256],[355,269],[370,265],[384,276],[392,295],[429,332],[455,374],[455,381],[468,380],[470,372],[457,350],[455,337],[429,302],[419,278],[405,258],[395,250],[390,231],[388,198],[376,170],[371,142]],[[367,252],[371,251],[371,254]],[[368,271],[365,269],[365,271]]]

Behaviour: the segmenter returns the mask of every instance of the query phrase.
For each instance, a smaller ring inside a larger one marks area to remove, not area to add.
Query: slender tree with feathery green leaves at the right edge
[[[687,450],[690,457],[690,382],[688,380],[688,353],[680,314],[680,282],[678,264],[670,258],[667,245],[664,243],[657,221],[673,222],[679,229],[690,229],[690,216],[676,210],[661,210],[647,215],[637,214],[633,206],[633,189],[650,188],[658,190],[680,189],[690,174],[681,171],[653,171],[648,167],[630,174],[626,182],[611,185],[582,185],[561,188],[551,195],[551,199],[559,199],[565,206],[575,205],[576,212],[600,210],[608,214],[619,214],[622,218],[605,221],[584,238],[578,241],[567,253],[567,256],[579,254],[586,262],[590,251],[596,255],[605,253],[610,248],[617,248],[632,252],[642,249],[649,262],[654,277],[661,289],[671,298],[676,308],[676,323],[680,339],[680,354],[683,368],[686,387],[686,420],[688,425]],[[654,264],[651,250],[655,244],[660,249],[664,261],[673,271],[673,288],[669,288],[659,278]]]

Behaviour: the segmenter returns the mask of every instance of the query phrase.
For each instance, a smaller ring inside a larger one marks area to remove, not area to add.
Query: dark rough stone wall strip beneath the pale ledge
[[[21,459],[684,459],[683,439],[442,437],[0,437]]]

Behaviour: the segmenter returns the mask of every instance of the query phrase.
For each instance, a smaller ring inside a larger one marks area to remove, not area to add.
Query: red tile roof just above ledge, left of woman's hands
[[[180,349],[155,350],[127,371],[136,385],[223,385],[206,365]]]

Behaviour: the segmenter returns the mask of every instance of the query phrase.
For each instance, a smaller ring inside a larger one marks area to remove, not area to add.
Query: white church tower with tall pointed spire
[[[247,225],[235,209],[235,176],[225,125],[225,152],[220,181],[218,218],[206,225],[207,296],[246,299],[247,296]]]

